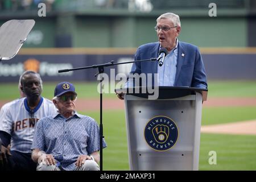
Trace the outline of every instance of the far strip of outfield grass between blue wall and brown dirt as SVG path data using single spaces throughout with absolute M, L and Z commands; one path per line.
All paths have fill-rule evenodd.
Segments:
M 52 99 L 57 82 L 43 83 L 42 96 Z M 73 82 L 79 98 L 99 98 L 97 82 Z M 256 81 L 209 81 L 208 97 L 256 97 Z M 0 100 L 19 97 L 18 83 L 0 84 Z M 115 98 L 115 94 L 104 94 L 104 98 Z

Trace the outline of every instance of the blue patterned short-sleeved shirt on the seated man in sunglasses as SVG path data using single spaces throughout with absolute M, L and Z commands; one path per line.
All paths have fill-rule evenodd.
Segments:
M 31 149 L 35 148 L 52 154 L 63 169 L 70 171 L 75 169 L 79 155 L 100 150 L 100 130 L 93 118 L 77 112 L 68 119 L 61 114 L 45 117 L 36 125 Z

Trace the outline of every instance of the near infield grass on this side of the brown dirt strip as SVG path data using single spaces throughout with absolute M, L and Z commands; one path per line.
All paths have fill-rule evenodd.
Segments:
M 256 107 L 236 107 L 243 110 L 242 113 L 250 113 Z M 250 110 L 250 111 L 247 111 Z M 230 107 L 222 107 L 220 110 L 203 110 L 202 125 L 225 123 L 237 121 L 241 113 L 233 112 Z M 100 120 L 99 113 L 83 113 L 90 115 L 97 121 Z M 216 114 L 218 118 L 216 119 Z M 224 118 L 221 118 L 221 115 Z M 226 117 L 228 115 L 228 117 Z M 228 119 L 228 121 L 225 120 Z M 255 119 L 256 112 L 246 119 Z M 214 122 L 217 121 L 217 122 Z M 104 169 L 105 170 L 128 170 L 128 151 L 125 126 L 125 112 L 123 110 L 106 111 L 103 114 L 104 136 L 108 147 L 104 149 Z M 256 136 L 253 135 L 220 135 L 201 134 L 200 141 L 200 170 L 256 170 Z M 217 152 L 217 164 L 210 165 L 209 151 Z

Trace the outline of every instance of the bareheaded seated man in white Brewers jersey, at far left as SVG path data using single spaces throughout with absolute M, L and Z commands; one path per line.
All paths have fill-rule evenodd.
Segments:
M 52 101 L 41 97 L 42 80 L 33 71 L 20 77 L 20 89 L 26 97 L 11 101 L 0 111 L 0 138 L 2 140 L 0 163 L 3 169 L 35 170 L 31 160 L 31 144 L 36 122 L 56 112 Z M 7 146 L 11 142 L 11 151 Z

